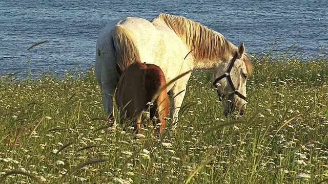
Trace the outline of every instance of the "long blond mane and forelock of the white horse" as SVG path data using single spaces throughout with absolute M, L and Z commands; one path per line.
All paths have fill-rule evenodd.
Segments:
M 237 51 L 237 47 L 218 32 L 206 26 L 182 16 L 175 16 L 166 13 L 159 14 L 159 18 L 184 41 L 190 50 L 195 61 L 201 59 L 213 60 L 216 58 L 230 59 Z M 248 55 L 245 54 L 245 64 L 249 74 L 252 73 L 252 63 Z

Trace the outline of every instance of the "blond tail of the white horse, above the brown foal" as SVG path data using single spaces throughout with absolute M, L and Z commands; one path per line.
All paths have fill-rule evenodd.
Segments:
M 139 50 L 133 40 L 133 35 L 128 29 L 116 25 L 112 30 L 116 62 L 124 71 L 130 64 L 140 62 Z

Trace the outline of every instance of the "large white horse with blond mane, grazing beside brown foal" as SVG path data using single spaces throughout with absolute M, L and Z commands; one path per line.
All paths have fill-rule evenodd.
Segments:
M 125 70 L 131 63 L 151 61 L 161 68 L 168 83 L 189 70 L 212 71 L 218 95 L 223 97 L 224 114 L 234 110 L 243 113 L 247 76 L 252 73 L 244 44 L 237 48 L 220 33 L 198 22 L 162 13 L 152 21 L 138 17 L 111 21 L 98 37 L 95 75 L 110 119 L 114 116 L 113 95 L 119 80 L 115 63 Z M 174 120 L 178 118 L 190 75 L 167 87 L 170 118 Z

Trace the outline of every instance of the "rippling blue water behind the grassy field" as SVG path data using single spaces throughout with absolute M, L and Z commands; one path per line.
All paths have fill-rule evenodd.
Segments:
M 222 33 L 248 53 L 292 52 L 305 57 L 328 53 L 328 1 L 99 1 L 1 0 L 0 75 L 90 68 L 99 32 L 111 19 L 151 20 L 165 12 L 182 15 Z M 49 43 L 27 49 L 34 43 Z

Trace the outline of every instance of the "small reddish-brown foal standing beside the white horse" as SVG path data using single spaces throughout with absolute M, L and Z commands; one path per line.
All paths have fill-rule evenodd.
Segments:
M 116 104 L 121 110 L 121 122 L 132 120 L 133 126 L 140 133 L 141 112 L 147 110 L 157 91 L 166 84 L 165 75 L 160 67 L 154 64 L 133 63 L 121 74 L 116 89 Z M 150 118 L 156 117 L 161 124 L 159 132 L 165 127 L 164 117 L 168 117 L 169 98 L 167 90 L 160 92 L 154 105 L 150 108 Z

